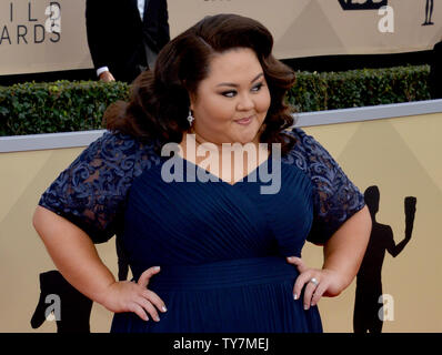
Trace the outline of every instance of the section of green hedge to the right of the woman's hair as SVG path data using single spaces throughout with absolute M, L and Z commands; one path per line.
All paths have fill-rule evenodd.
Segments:
M 289 93 L 300 112 L 430 100 L 429 65 L 298 74 Z

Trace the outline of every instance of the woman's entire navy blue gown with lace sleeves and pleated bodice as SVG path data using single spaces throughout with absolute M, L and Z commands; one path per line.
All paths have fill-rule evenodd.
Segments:
M 304 311 L 302 295 L 293 300 L 298 271 L 285 256 L 301 256 L 307 240 L 325 243 L 364 201 L 312 136 L 289 134 L 297 144 L 282 158 L 275 194 L 261 193 L 259 174 L 233 185 L 165 182 L 167 159 L 153 144 L 112 132 L 60 174 L 41 206 L 94 243 L 117 234 L 135 281 L 161 266 L 148 286 L 168 308 L 161 321 L 119 313 L 111 332 L 322 332 L 318 307 Z M 271 159 L 263 164 L 272 169 Z

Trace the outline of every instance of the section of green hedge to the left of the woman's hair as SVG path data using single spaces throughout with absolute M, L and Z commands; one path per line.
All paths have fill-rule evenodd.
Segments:
M 97 130 L 106 108 L 128 98 L 123 82 L 23 83 L 0 87 L 0 135 Z

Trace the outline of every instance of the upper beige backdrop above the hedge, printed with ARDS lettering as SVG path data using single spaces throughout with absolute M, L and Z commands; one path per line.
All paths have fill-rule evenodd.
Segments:
M 133 1 L 133 0 L 127 0 Z M 401 53 L 442 39 L 433 0 L 169 0 L 173 38 L 208 14 L 264 23 L 280 59 Z M 90 69 L 84 0 L 0 0 L 0 75 Z

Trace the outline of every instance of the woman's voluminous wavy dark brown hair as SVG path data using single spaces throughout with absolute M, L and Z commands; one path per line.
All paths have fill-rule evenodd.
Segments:
M 145 71 L 134 80 L 130 101 L 108 108 L 107 128 L 142 140 L 153 139 L 160 145 L 181 142 L 189 130 L 190 94 L 209 75 L 211 58 L 235 48 L 253 50 L 260 61 L 271 95 L 260 141 L 281 143 L 284 154 L 294 144 L 294 139 L 282 132 L 293 124 L 285 94 L 295 81 L 294 72 L 272 55 L 269 30 L 238 14 L 205 17 L 170 41 L 159 53 L 154 71 Z

